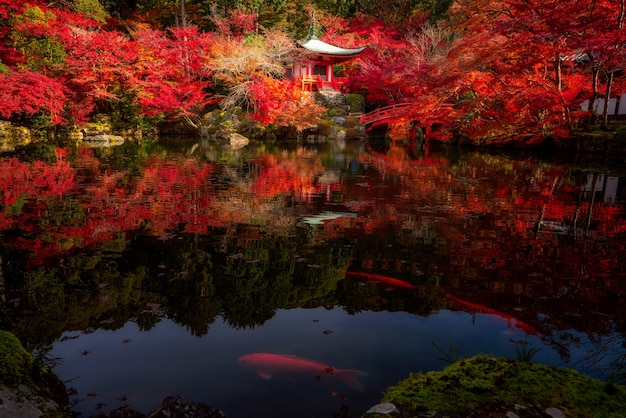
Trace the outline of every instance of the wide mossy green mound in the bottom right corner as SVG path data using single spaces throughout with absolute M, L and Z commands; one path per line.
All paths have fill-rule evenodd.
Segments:
M 440 372 L 412 374 L 384 399 L 404 413 L 470 414 L 491 403 L 528 409 L 558 408 L 568 417 L 618 417 L 626 410 L 626 387 L 575 370 L 479 355 Z

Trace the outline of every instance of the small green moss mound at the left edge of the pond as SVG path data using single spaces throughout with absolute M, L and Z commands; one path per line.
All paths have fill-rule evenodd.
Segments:
M 30 381 L 33 357 L 10 332 L 0 330 L 0 383 L 16 387 Z

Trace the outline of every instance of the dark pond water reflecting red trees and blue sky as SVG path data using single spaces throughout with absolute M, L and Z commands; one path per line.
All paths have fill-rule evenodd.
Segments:
M 0 326 L 84 417 L 170 395 L 358 417 L 411 372 L 522 341 L 623 381 L 621 166 L 361 142 L 21 149 L 0 158 Z M 239 361 L 258 353 L 275 356 Z

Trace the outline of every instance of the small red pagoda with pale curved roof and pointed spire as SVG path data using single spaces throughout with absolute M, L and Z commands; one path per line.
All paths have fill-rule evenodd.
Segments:
M 335 77 L 334 65 L 353 59 L 367 48 L 345 49 L 321 41 L 316 35 L 315 10 L 307 38 L 298 46 L 305 53 L 294 62 L 291 76 L 300 79 L 302 89 L 308 91 L 325 89 L 343 91 L 347 80 Z

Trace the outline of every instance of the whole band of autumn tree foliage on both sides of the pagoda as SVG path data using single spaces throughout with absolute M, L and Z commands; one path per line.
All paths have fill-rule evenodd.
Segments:
M 142 128 L 242 106 L 260 124 L 314 126 L 324 109 L 285 78 L 314 9 L 323 41 L 368 47 L 342 64 L 350 91 L 370 109 L 412 103 L 394 129 L 567 138 L 606 124 L 623 90 L 625 1 L 0 0 L 0 117 Z

